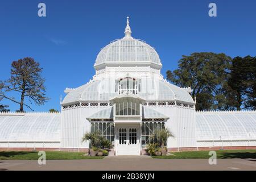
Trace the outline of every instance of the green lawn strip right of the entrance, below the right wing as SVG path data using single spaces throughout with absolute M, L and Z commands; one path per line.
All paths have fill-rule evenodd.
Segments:
M 256 159 L 256 150 L 218 150 L 218 159 Z M 171 152 L 174 155 L 152 156 L 155 159 L 209 159 L 209 151 Z

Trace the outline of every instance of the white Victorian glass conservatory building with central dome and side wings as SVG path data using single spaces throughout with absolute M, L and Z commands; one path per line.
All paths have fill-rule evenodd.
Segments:
M 0 113 L 0 150 L 87 151 L 100 131 L 115 155 L 141 155 L 154 130 L 168 128 L 168 150 L 256 148 L 256 111 L 195 111 L 190 88 L 160 74 L 154 48 L 131 36 L 98 53 L 92 80 L 65 89 L 60 113 Z

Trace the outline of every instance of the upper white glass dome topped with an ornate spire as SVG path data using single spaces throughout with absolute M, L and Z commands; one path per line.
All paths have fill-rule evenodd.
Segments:
M 129 17 L 125 28 L 125 37 L 115 40 L 98 53 L 94 68 L 104 64 L 154 64 L 162 68 L 158 53 L 142 40 L 131 37 Z

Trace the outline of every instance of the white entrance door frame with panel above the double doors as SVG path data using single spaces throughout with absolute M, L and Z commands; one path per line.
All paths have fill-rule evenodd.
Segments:
M 119 143 L 119 129 L 126 129 L 123 143 Z M 130 143 L 130 129 L 136 129 L 136 144 Z M 115 123 L 115 155 L 141 155 L 141 124 L 140 123 Z

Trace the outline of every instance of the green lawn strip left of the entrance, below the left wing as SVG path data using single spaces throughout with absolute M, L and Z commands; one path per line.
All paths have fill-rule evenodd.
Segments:
M 46 151 L 46 159 L 103 159 L 104 157 L 84 156 L 84 152 L 61 152 L 61 151 Z M 23 152 L 23 151 L 1 151 L 0 160 L 18 159 L 18 160 L 38 160 L 40 156 L 38 152 Z

